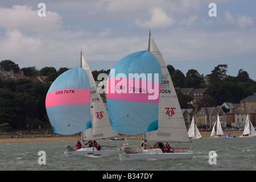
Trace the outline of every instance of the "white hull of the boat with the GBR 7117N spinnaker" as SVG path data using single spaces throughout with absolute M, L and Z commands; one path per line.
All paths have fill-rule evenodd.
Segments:
M 97 150 L 95 147 L 81 148 L 76 151 L 65 151 L 66 157 L 74 155 L 90 156 L 90 157 L 107 157 L 110 155 L 120 154 L 119 150 Z

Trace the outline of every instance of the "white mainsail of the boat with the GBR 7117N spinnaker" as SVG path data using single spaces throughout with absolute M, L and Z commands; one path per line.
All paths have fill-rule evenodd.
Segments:
M 88 75 L 90 83 L 90 115 L 92 119 L 92 127 L 82 131 L 83 140 L 97 140 L 102 138 L 118 137 L 119 134 L 112 130 L 109 121 L 109 114 L 106 110 L 104 102 L 98 93 L 96 82 L 94 81 L 92 71 L 86 63 L 81 52 L 81 68 Z

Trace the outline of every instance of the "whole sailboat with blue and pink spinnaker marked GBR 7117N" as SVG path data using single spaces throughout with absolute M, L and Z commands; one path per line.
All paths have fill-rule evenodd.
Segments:
M 82 52 L 81 67 L 69 69 L 52 83 L 46 96 L 46 110 L 55 133 L 72 135 L 82 132 L 82 148 L 75 150 L 66 146 L 65 156 L 119 154 L 119 150 L 84 147 L 84 141 L 112 138 L 119 134 L 111 129 L 108 111 Z

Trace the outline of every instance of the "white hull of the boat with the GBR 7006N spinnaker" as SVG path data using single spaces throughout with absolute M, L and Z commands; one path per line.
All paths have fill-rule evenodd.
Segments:
M 143 150 L 142 154 L 119 154 L 120 160 L 192 159 L 192 152 L 163 153 L 162 150 Z

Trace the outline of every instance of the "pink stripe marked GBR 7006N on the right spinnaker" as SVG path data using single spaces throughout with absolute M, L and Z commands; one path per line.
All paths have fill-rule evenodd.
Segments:
M 138 81 L 139 84 L 136 84 Z M 108 78 L 107 98 L 116 100 L 150 102 L 159 101 L 161 84 L 135 78 Z

